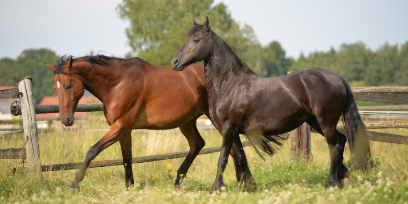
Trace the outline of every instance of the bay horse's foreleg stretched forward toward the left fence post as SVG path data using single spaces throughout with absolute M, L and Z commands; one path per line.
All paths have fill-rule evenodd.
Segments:
M 72 183 L 69 185 L 69 188 L 74 191 L 79 191 L 80 186 L 79 183 L 84 179 L 85 172 L 93 159 L 104 149 L 111 146 L 113 143 L 120 140 L 122 137 L 129 135 L 131 131 L 130 128 L 125 128 L 121 125 L 121 122 L 116 121 L 113 123 L 111 130 L 102 137 L 96 144 L 94 144 L 91 148 L 89 148 L 88 152 L 86 153 L 86 158 L 80 170 L 75 173 L 75 177 Z

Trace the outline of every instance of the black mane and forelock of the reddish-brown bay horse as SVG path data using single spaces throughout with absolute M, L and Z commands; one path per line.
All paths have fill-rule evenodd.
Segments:
M 86 59 L 86 61 L 88 61 L 89 64 L 91 64 L 91 66 L 93 68 L 96 68 L 95 65 L 107 64 L 108 61 L 110 61 L 110 60 L 120 60 L 120 61 L 130 61 L 130 60 L 133 60 L 133 59 L 142 60 L 140 58 L 123 59 L 123 58 L 109 57 L 109 56 L 105 56 L 105 55 L 84 56 L 84 57 L 79 57 L 79 58 L 73 58 L 73 56 L 71 56 L 71 55 L 69 55 L 69 56 L 63 55 L 60 59 L 58 59 L 57 63 L 54 65 L 56 67 L 54 73 L 66 74 L 66 72 L 63 71 L 62 68 L 67 64 L 67 62 L 69 61 L 69 59 L 71 57 L 72 57 L 73 62 L 75 62 L 77 60 Z

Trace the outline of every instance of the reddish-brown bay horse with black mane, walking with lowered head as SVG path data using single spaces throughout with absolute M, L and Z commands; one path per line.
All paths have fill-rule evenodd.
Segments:
M 180 187 L 194 158 L 205 145 L 196 127 L 199 116 L 209 116 L 202 65 L 191 65 L 186 71 L 178 72 L 170 66 L 155 66 L 139 58 L 124 60 L 100 55 L 74 59 L 63 56 L 55 66 L 46 65 L 55 73 L 53 88 L 65 126 L 73 124 L 73 113 L 84 89 L 104 103 L 103 111 L 111 126 L 111 130 L 88 150 L 70 188 L 79 190 L 79 182 L 89 163 L 117 141 L 122 149 L 125 186 L 133 185 L 131 131 L 176 127 L 180 127 L 190 146 L 188 156 L 177 170 L 174 187 Z M 241 146 L 238 139 L 231 150 L 238 181 L 244 171 L 249 171 L 247 165 L 240 163 L 243 160 Z M 234 151 L 238 154 L 234 155 Z

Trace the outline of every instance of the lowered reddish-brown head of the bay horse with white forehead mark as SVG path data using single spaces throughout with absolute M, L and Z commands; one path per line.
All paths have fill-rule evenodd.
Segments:
M 63 56 L 57 67 L 45 63 L 55 74 L 53 88 L 58 95 L 60 119 L 65 126 L 73 124 L 73 113 L 85 92 L 84 85 L 72 72 L 72 62 L 72 56 L 69 58 Z

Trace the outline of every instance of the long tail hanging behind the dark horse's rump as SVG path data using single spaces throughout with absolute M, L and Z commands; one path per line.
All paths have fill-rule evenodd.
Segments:
M 368 132 L 366 125 L 363 123 L 357 105 L 355 104 L 351 88 L 347 82 L 340 77 L 347 90 L 346 107 L 343 111 L 344 130 L 350 155 L 353 161 L 353 168 L 365 169 L 367 163 L 371 161 L 370 143 L 368 141 Z

